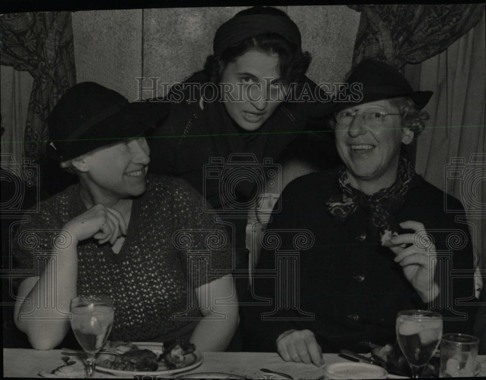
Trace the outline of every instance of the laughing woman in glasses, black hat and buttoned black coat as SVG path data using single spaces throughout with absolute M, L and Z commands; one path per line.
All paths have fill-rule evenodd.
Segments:
M 278 350 L 286 361 L 320 365 L 322 352 L 392 343 L 401 310 L 440 306 L 452 317 L 444 331 L 469 333 L 472 326 L 474 313 L 464 319 L 467 309 L 455 301 L 471 299 L 473 278 L 451 284 L 443 272 L 446 261 L 454 270 L 473 268 L 468 227 L 444 211 L 444 199 L 461 205 L 400 155 L 424 128 L 421 109 L 432 92 L 413 91 L 399 71 L 372 60 L 359 64 L 347 84 L 349 98 L 335 103 L 331 123 L 342 165 L 290 183 L 268 225 L 287 254 L 295 240 L 285 231 L 311 236 L 297 253 L 300 287 L 279 294 L 275 283 L 287 277 L 255 278 L 254 294 L 274 302 L 242 315 L 248 347 Z M 277 254 L 267 244 L 257 269 L 278 270 Z

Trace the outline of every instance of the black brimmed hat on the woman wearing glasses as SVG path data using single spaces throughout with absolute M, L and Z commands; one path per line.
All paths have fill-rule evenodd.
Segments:
M 410 97 L 422 109 L 433 94 L 432 91 L 414 91 L 399 70 L 372 59 L 359 63 L 348 76 L 346 83 L 346 92 L 333 100 L 333 112 L 357 104 L 405 96 Z

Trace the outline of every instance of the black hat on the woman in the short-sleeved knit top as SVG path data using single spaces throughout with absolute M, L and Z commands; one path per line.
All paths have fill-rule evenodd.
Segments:
M 97 83 L 79 83 L 66 91 L 49 115 L 49 153 L 66 161 L 140 136 L 168 112 L 168 103 L 129 103 L 118 92 Z

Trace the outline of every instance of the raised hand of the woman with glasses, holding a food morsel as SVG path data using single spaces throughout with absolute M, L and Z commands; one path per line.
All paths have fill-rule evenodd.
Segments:
M 430 302 L 438 294 L 438 286 L 434 281 L 435 246 L 427 236 L 423 224 L 406 221 L 400 223 L 400 227 L 411 229 L 415 233 L 393 236 L 392 244 L 406 244 L 406 246 L 394 246 L 390 249 L 397 255 L 395 261 L 402 266 L 403 274 L 420 295 L 422 301 Z

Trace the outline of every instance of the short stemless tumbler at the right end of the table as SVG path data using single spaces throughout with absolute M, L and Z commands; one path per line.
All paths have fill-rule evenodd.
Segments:
M 439 377 L 473 377 L 479 339 L 466 334 L 444 334 L 440 343 Z

